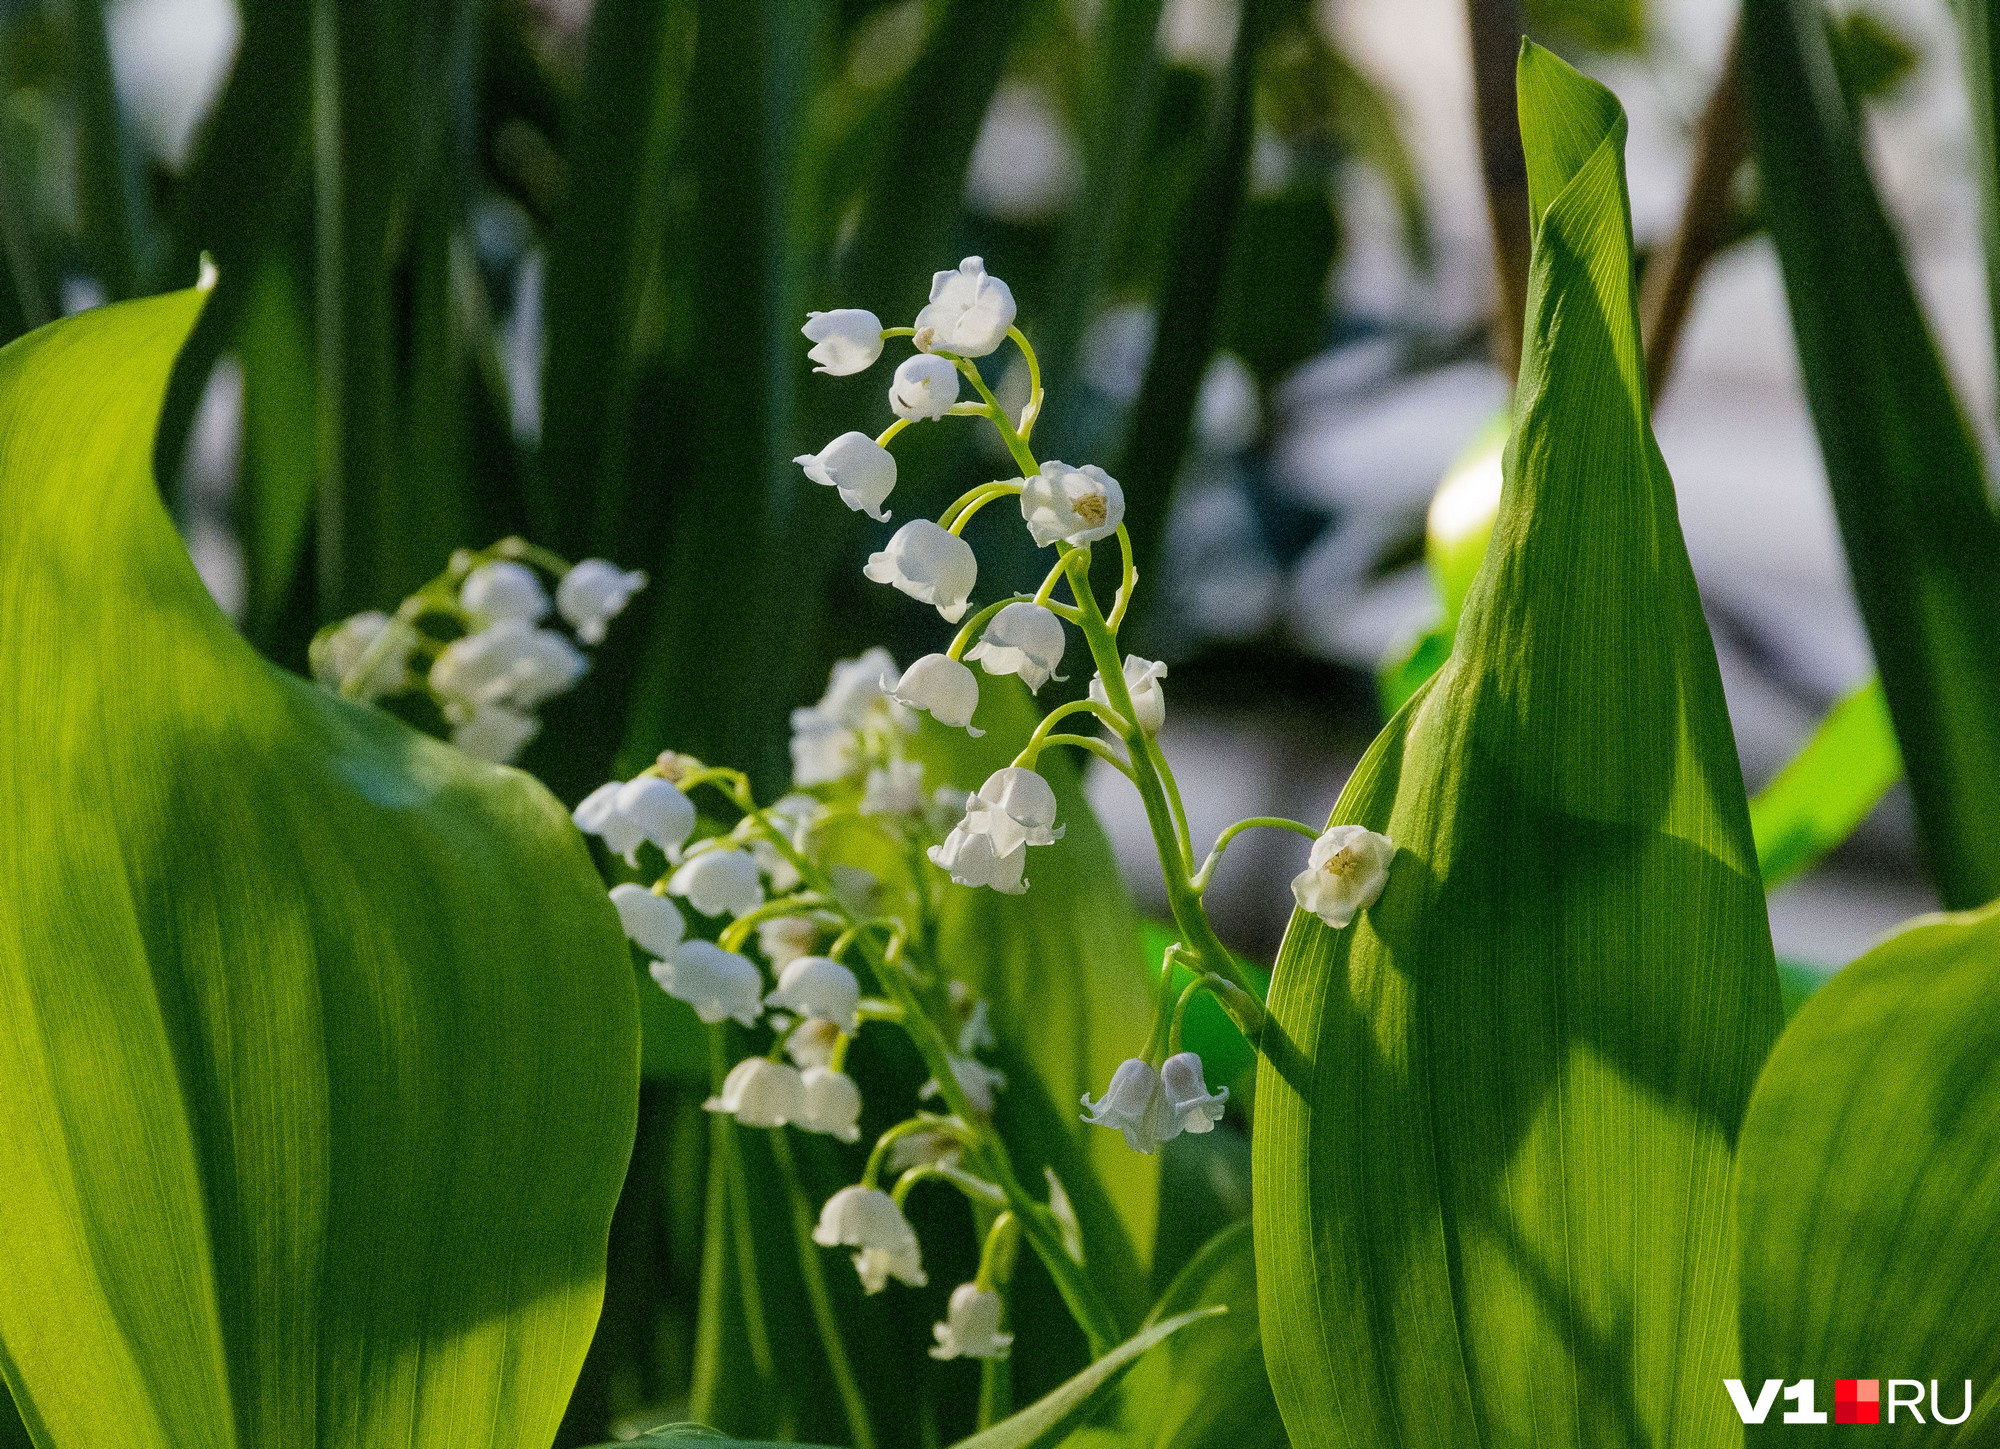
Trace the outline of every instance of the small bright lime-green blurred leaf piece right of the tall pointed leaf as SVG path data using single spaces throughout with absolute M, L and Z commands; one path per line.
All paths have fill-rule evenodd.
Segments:
M 1820 729 L 1750 801 L 1758 869 L 1776 887 L 1810 871 L 1846 841 L 1902 779 L 1902 755 L 1882 682 L 1868 680 L 1820 720 Z

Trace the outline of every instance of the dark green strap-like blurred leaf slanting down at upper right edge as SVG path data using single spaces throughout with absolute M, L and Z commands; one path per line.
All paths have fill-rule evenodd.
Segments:
M 2000 518 L 1816 0 L 1748 0 L 1762 212 L 1938 895 L 2000 895 Z

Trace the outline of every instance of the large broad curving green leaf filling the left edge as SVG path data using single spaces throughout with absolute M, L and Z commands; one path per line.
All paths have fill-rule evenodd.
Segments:
M 148 466 L 202 298 L 0 352 L 0 1345 L 42 1449 L 544 1449 L 632 1141 L 560 807 L 262 662 Z

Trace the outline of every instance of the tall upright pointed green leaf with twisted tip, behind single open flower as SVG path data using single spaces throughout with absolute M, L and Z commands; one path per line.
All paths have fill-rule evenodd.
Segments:
M 1780 1023 L 1714 646 L 1646 420 L 1618 102 L 1520 58 L 1534 264 L 1450 662 L 1334 807 L 1396 843 L 1298 915 L 1254 1125 L 1302 1445 L 1734 1441 L 1730 1143 Z

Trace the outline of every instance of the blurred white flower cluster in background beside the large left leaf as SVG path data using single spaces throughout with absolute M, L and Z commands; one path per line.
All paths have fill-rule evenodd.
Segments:
M 550 598 L 534 556 L 556 574 Z M 560 564 L 508 540 L 486 554 L 454 558 L 444 576 L 412 594 L 394 616 L 370 610 L 320 630 L 312 676 L 338 694 L 380 700 L 422 692 L 452 727 L 452 743 L 484 761 L 512 763 L 540 731 L 536 710 L 590 668 L 578 648 L 604 630 L 646 574 L 602 558 Z M 550 628 L 560 614 L 570 634 Z M 456 636 L 426 628 L 432 620 Z

